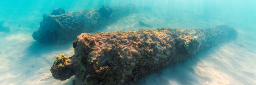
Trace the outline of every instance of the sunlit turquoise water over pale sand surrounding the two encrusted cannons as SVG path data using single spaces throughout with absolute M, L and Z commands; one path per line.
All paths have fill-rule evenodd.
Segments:
M 140 85 L 255 85 L 256 0 L 3 0 L 0 21 L 10 32 L 0 32 L 0 85 L 70 85 L 50 67 L 56 55 L 72 56 L 72 43 L 41 44 L 32 38 L 42 15 L 54 8 L 66 12 L 134 4 L 130 14 L 103 27 L 102 32 L 156 28 L 213 28 L 229 25 L 238 31 L 236 41 L 223 43 L 172 67 L 148 75 Z M 150 26 L 138 25 L 142 20 Z M 1 25 L 1 24 L 0 24 Z

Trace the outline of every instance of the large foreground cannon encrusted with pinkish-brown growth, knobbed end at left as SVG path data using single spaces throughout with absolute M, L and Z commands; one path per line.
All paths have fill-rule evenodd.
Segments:
M 73 42 L 75 54 L 57 56 L 51 73 L 60 80 L 75 75 L 76 85 L 136 84 L 149 73 L 236 36 L 229 26 L 83 33 Z

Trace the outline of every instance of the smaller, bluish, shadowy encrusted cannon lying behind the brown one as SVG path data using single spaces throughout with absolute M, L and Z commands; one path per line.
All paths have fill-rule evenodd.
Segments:
M 40 28 L 33 33 L 34 40 L 42 43 L 66 43 L 75 40 L 81 33 L 95 32 L 103 26 L 136 12 L 134 5 L 82 10 L 66 13 L 56 8 L 43 15 Z

